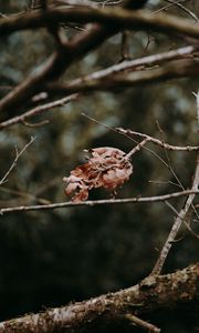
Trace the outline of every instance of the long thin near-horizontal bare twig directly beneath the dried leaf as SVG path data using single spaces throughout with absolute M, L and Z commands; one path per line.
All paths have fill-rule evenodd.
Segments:
M 170 194 L 156 195 L 156 196 L 136 196 L 136 198 L 126 198 L 126 199 L 104 199 L 104 200 L 87 200 L 83 202 L 60 202 L 52 204 L 43 204 L 43 205 L 21 205 L 21 206 L 10 206 L 10 208 L 1 208 L 0 214 L 12 213 L 12 212 L 28 212 L 28 211 L 39 211 L 39 210 L 55 210 L 71 206 L 94 206 L 102 204 L 125 204 L 125 203 L 155 203 L 155 202 L 165 202 L 168 200 L 172 200 L 180 196 L 186 196 L 189 194 L 199 194 L 199 190 L 188 190 L 181 192 L 174 192 Z

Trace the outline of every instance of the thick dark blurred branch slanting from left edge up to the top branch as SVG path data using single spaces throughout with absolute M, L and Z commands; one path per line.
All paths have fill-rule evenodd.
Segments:
M 142 8 L 147 0 L 132 0 L 125 1 L 125 8 L 128 9 L 137 9 Z M 84 8 L 81 10 L 85 10 Z M 77 9 L 72 10 L 76 17 L 81 16 Z M 88 14 L 91 13 L 91 9 L 87 10 Z M 97 10 L 101 12 L 101 10 Z M 127 11 L 128 12 L 128 11 Z M 61 10 L 61 14 L 63 10 Z M 35 13 L 32 12 L 30 16 L 34 16 Z M 42 11 L 39 14 L 49 14 L 48 11 Z M 29 14 L 28 14 L 29 16 Z M 53 18 L 56 14 L 53 12 Z M 27 16 L 23 17 L 27 20 Z M 51 24 L 53 26 L 54 22 L 50 20 Z M 21 17 L 19 19 L 19 24 L 21 24 Z M 12 20 L 12 18 L 11 18 Z M 36 18 L 38 20 L 38 18 Z M 43 19 L 39 17 L 39 21 Z M 29 17 L 28 17 L 29 21 Z M 91 20 L 90 21 L 96 21 Z M 7 27 L 9 21 L 0 20 L 0 34 L 7 33 Z M 48 26 L 49 27 L 49 26 Z M 0 112 L 4 112 L 11 110 L 13 107 L 19 107 L 20 104 L 24 103 L 33 97 L 35 93 L 42 91 L 44 89 L 44 83 L 59 79 L 61 74 L 66 70 L 74 61 L 83 58 L 87 52 L 95 50 L 98 46 L 101 46 L 108 37 L 117 33 L 119 28 L 117 26 L 109 24 L 108 26 L 101 26 L 100 23 L 92 24 L 86 31 L 77 34 L 73 40 L 67 41 L 59 46 L 59 50 L 55 51 L 50 59 L 48 59 L 43 65 L 30 77 L 28 77 L 21 84 L 19 84 L 15 89 L 13 89 L 10 93 L 8 93 L 1 101 L 0 101 Z M 13 30 L 15 31 L 15 30 Z

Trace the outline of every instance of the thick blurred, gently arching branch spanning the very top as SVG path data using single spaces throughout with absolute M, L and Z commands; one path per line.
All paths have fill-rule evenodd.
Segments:
M 137 1 L 137 3 L 139 2 L 142 1 Z M 142 8 L 142 4 L 139 8 Z M 151 14 L 147 11 L 132 12 L 121 8 L 97 9 L 91 7 L 54 8 L 48 11 L 25 13 L 23 17 L 2 18 L 0 20 L 0 36 L 6 36 L 17 30 L 43 28 L 59 22 L 97 22 L 106 27 L 115 26 L 117 30 L 151 29 L 157 32 L 172 32 L 199 38 L 199 27 L 192 23 L 191 20 L 164 13 Z

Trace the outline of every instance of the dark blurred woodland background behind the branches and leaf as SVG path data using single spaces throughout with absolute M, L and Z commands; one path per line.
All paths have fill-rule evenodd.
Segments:
M 149 1 L 148 9 L 157 10 L 166 4 L 167 1 Z M 190 1 L 184 1 L 184 4 L 188 7 Z M 29 6 L 25 0 L 0 0 L 1 16 L 23 12 Z M 170 7 L 167 11 L 188 16 L 179 8 Z M 65 28 L 65 33 L 73 36 L 76 31 Z M 97 51 L 74 63 L 63 80 L 117 63 L 121 60 L 121 34 L 111 38 Z M 132 59 L 179 46 L 186 46 L 186 42 L 158 33 L 129 33 Z M 44 29 L 1 38 L 1 97 L 38 69 L 53 49 L 54 41 Z M 181 79 L 121 89 L 115 93 L 95 92 L 31 119 L 30 124 L 1 131 L 0 179 L 14 159 L 14 145 L 21 149 L 31 135 L 36 139 L 18 161 L 9 181 L 0 186 L 0 205 L 65 201 L 62 179 L 84 162 L 84 149 L 108 145 L 128 152 L 135 145 L 81 112 L 108 127 L 129 128 L 161 140 L 164 132 L 164 140 L 171 144 L 198 144 L 196 99 L 192 95 L 198 87 L 196 79 Z M 43 120 L 49 120 L 49 123 L 31 127 Z M 179 191 L 179 182 L 185 188 L 189 185 L 195 153 L 166 154 L 153 144 L 148 148 L 156 155 L 147 150 L 134 155 L 134 173 L 118 191 L 118 198 Z M 93 191 L 90 195 L 90 199 L 106 198 L 109 193 L 104 190 Z M 184 199 L 174 203 L 179 210 Z M 137 283 L 151 271 L 174 218 L 164 203 L 70 208 L 0 216 L 0 320 Z M 197 231 L 197 223 L 192 228 Z M 164 272 L 196 262 L 198 245 L 198 241 L 182 230 Z M 197 314 L 191 312 L 186 312 L 185 316 L 181 312 L 157 313 L 153 323 L 163 327 L 163 332 L 199 332 Z M 105 327 L 100 330 L 105 332 Z M 132 330 L 139 332 L 127 325 L 106 329 L 107 332 Z

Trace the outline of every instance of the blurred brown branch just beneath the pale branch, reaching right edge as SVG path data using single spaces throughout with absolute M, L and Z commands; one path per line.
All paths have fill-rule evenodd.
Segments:
M 179 79 L 199 75 L 199 65 L 197 59 L 184 59 L 172 61 L 163 67 L 154 69 L 135 71 L 132 73 L 121 73 L 115 75 L 95 77 L 86 75 L 81 79 L 73 80 L 66 84 L 50 84 L 48 88 L 51 92 L 61 94 L 71 94 L 75 92 L 88 91 L 114 91 L 137 84 L 148 84 L 153 82 L 161 82 L 170 79 Z

